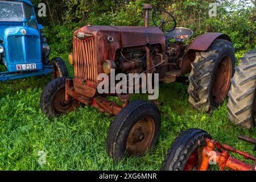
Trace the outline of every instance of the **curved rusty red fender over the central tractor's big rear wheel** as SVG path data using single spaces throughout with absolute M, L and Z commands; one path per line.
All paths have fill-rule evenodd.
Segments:
M 210 45 L 216 39 L 225 39 L 232 42 L 230 37 L 226 34 L 208 32 L 198 36 L 193 42 L 188 46 L 186 53 L 181 60 L 181 75 L 185 75 L 191 72 L 191 63 L 195 60 L 195 51 L 206 51 Z

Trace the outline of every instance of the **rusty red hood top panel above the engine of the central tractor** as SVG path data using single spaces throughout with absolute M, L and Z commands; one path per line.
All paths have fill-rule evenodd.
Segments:
M 131 27 L 131 26 L 84 26 L 75 31 L 92 34 L 93 36 L 104 36 L 107 40 L 110 34 L 117 36 L 115 40 L 121 41 L 121 48 L 144 46 L 146 44 L 165 44 L 164 33 L 158 27 Z

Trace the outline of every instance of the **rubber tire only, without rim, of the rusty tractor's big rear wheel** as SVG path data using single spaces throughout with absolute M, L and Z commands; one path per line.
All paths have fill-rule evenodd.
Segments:
M 233 44 L 228 40 L 216 39 L 207 51 L 197 51 L 195 61 L 192 63 L 192 72 L 189 76 L 189 102 L 193 107 L 204 112 L 210 112 L 214 107 L 223 104 L 216 104 L 213 100 L 213 84 L 218 65 L 223 56 L 229 56 L 232 60 L 232 76 L 236 57 Z M 231 78 L 231 77 L 230 77 Z M 228 89 L 229 90 L 229 89 Z M 228 96 L 226 90 L 226 96 Z M 225 97 L 226 98 L 226 97 Z

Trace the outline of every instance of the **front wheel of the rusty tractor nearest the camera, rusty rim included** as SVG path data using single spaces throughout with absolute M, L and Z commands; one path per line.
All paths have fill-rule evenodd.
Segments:
M 115 162 L 125 154 L 143 155 L 158 141 L 160 125 L 160 111 L 153 103 L 131 102 L 119 112 L 110 126 L 106 142 L 108 154 Z

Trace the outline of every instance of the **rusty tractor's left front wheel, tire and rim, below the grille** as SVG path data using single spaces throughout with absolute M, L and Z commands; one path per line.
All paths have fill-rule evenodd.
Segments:
M 75 110 L 80 106 L 79 101 L 65 101 L 65 80 L 67 77 L 59 77 L 49 82 L 44 88 L 40 98 L 40 107 L 43 114 L 46 114 L 49 119 L 53 119 L 61 114 L 66 114 Z

